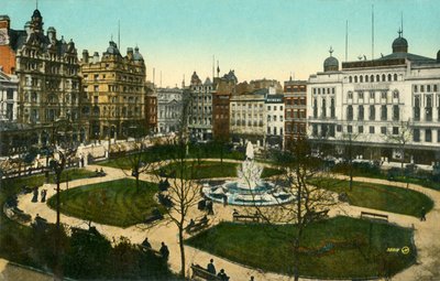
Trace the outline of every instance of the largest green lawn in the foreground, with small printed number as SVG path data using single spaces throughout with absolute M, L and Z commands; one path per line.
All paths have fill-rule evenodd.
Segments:
M 292 275 L 294 230 L 293 225 L 221 223 L 186 244 L 253 268 Z M 411 238 L 410 229 L 363 219 L 336 217 L 314 223 L 304 234 L 299 272 L 348 279 L 395 274 L 415 261 Z M 405 246 L 410 248 L 409 255 L 386 251 Z

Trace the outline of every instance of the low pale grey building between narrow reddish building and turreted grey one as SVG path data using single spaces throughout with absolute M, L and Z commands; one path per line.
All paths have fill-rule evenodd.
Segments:
M 183 95 L 179 88 L 157 88 L 157 132 L 177 132 L 182 128 Z

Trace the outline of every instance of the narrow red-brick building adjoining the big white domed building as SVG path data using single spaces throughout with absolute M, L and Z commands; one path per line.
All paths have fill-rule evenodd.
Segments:
M 307 82 L 287 80 L 284 83 L 285 147 L 307 133 Z

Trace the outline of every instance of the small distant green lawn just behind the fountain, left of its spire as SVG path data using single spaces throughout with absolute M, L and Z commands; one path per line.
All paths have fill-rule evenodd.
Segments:
M 220 163 L 209 161 L 188 161 L 184 172 L 185 179 L 211 179 L 211 177 L 233 177 L 237 176 L 237 163 Z M 180 177 L 179 163 L 170 163 L 162 167 L 166 176 Z

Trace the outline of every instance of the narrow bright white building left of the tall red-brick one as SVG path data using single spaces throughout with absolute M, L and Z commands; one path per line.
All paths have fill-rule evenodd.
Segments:
M 275 94 L 275 88 L 266 91 L 266 148 L 282 149 L 284 143 L 284 95 Z

